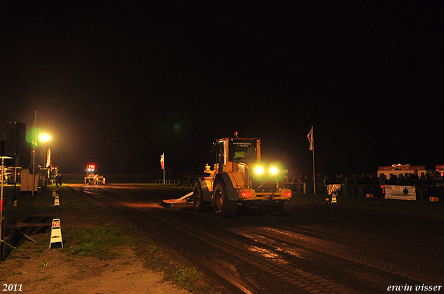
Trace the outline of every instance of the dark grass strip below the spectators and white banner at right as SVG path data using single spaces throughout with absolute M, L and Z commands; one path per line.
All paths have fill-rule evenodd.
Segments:
M 312 204 L 327 204 L 325 194 L 294 193 L 292 199 Z M 364 212 L 390 212 L 391 214 L 415 215 L 418 217 L 434 217 L 444 219 L 444 202 L 407 201 L 383 198 L 347 197 L 336 198 L 338 206 Z M 335 205 L 335 204 L 333 204 Z

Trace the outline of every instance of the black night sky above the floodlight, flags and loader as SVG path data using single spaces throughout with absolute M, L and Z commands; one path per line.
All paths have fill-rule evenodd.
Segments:
M 0 122 L 60 172 L 201 174 L 239 131 L 310 175 L 311 125 L 317 173 L 444 164 L 439 1 L 140 2 L 0 4 Z

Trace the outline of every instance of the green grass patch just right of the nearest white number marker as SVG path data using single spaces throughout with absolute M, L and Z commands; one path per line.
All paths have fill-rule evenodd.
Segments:
M 74 228 L 66 230 L 63 237 L 69 240 L 69 248 L 60 249 L 71 255 L 85 255 L 99 259 L 114 259 L 121 255 L 120 246 L 129 246 L 133 242 L 121 233 L 114 223 L 107 223 L 99 228 Z

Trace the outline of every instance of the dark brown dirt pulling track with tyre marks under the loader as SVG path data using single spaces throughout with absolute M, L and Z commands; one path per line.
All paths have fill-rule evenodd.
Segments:
M 442 223 L 361 215 L 289 201 L 284 215 L 160 207 L 184 192 L 77 187 L 132 223 L 139 235 L 196 266 L 224 293 L 386 293 L 393 285 L 442 286 Z

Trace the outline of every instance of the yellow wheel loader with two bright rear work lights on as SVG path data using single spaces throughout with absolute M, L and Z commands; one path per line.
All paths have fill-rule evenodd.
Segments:
M 214 143 L 216 163 L 206 165 L 207 176 L 198 178 L 192 199 L 196 211 L 212 207 L 219 217 L 234 217 L 239 206 L 263 212 L 282 211 L 291 190 L 284 186 L 278 165 L 261 161 L 261 139 L 226 137 Z M 190 195 L 191 196 L 191 195 Z

